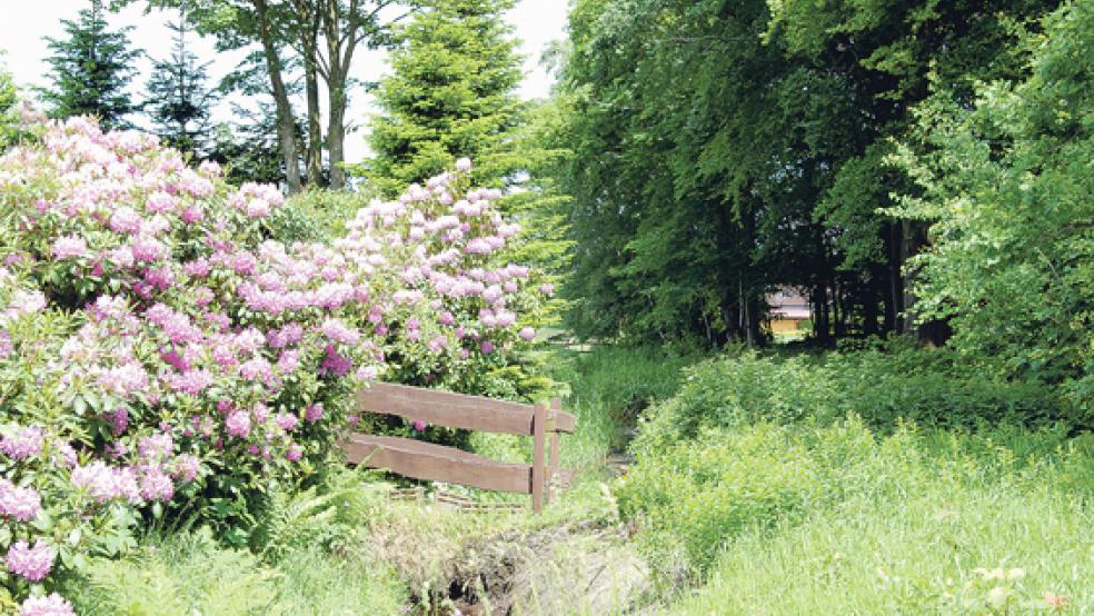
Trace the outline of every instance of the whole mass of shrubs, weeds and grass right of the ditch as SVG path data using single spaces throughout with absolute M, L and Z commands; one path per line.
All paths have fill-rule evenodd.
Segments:
M 674 614 L 1094 610 L 1094 436 L 947 351 L 733 354 L 613 486 Z

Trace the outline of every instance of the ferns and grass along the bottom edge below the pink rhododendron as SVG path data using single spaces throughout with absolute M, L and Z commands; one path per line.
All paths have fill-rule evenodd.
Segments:
M 208 531 L 148 537 L 128 558 L 97 559 L 89 572 L 70 594 L 88 616 L 348 616 L 406 604 L 390 567 L 367 555 L 299 548 L 269 565 Z

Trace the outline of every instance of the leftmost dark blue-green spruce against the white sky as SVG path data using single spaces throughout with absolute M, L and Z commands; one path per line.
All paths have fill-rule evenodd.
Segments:
M 127 88 L 141 52 L 129 48 L 126 32 L 131 28 L 107 30 L 103 13 L 102 0 L 91 0 L 78 20 L 61 20 L 67 38 L 46 37 L 53 52 L 47 59 L 53 88 L 41 93 L 53 117 L 92 115 L 103 128 L 126 128 L 126 116 L 137 110 Z

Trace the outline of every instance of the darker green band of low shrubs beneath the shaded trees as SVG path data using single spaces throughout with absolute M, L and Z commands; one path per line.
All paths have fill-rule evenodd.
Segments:
M 639 447 L 753 423 L 824 425 L 849 413 L 882 433 L 902 423 L 975 427 L 1074 419 L 1052 389 L 985 375 L 948 351 L 747 352 L 690 369 L 680 393 L 648 417 Z

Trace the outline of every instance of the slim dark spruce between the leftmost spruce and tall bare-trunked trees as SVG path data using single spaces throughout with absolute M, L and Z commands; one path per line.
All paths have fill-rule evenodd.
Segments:
M 175 48 L 169 59 L 155 64 L 148 80 L 146 109 L 156 133 L 167 143 L 203 156 L 208 147 L 209 117 L 218 98 L 206 85 L 209 62 L 198 63 L 197 54 L 187 48 L 190 27 L 185 17 L 167 27 L 175 32 Z

